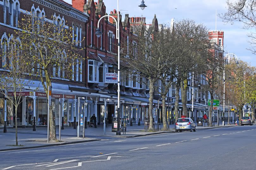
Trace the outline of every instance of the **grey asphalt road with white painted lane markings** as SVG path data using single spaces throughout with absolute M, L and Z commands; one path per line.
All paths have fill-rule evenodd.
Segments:
M 0 169 L 256 169 L 256 126 L 0 152 Z

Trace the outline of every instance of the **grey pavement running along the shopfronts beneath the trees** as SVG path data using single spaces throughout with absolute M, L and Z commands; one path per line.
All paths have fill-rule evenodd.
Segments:
M 226 126 L 197 126 L 199 129 L 212 129 L 218 127 L 229 127 L 235 125 L 226 125 Z M 148 135 L 156 135 L 161 133 L 171 133 L 175 132 L 174 125 L 169 125 L 169 131 L 157 131 L 157 132 L 145 132 L 144 125 L 137 126 L 127 126 L 126 134 L 121 132 L 121 136 L 116 136 L 115 132 L 112 132 L 111 124 L 107 124 L 106 135 L 103 134 L 103 126 L 98 125 L 97 128 L 87 127 L 85 129 L 85 138 L 77 137 L 77 129 L 73 127 L 64 127 L 64 130 L 61 130 L 61 142 L 47 143 L 47 128 L 46 127 L 37 127 L 36 131 L 33 132 L 32 128 L 18 128 L 18 145 L 20 146 L 11 146 L 15 145 L 15 129 L 7 129 L 7 133 L 3 133 L 3 130 L 0 131 L 1 145 L 0 151 L 6 150 L 17 150 L 17 149 L 29 149 L 29 148 L 40 148 L 40 147 L 49 147 L 55 145 L 66 145 L 66 144 L 75 144 L 75 143 L 85 143 L 92 142 L 97 140 L 112 139 L 112 138 L 134 138 Z M 59 130 L 56 128 L 57 139 L 59 139 Z

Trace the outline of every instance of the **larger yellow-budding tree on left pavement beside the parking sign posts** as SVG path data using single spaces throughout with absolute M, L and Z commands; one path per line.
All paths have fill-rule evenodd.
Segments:
M 83 48 L 77 48 L 81 42 L 72 27 L 66 28 L 59 19 L 47 17 L 49 19 L 25 14 L 19 23 L 22 31 L 16 30 L 15 34 L 20 37 L 22 51 L 30 54 L 27 59 L 31 68 L 29 74 L 40 79 L 48 99 L 48 86 L 52 86 L 52 80 L 74 80 L 76 67 L 83 60 Z M 52 105 L 49 106 L 49 126 L 50 141 L 57 141 Z

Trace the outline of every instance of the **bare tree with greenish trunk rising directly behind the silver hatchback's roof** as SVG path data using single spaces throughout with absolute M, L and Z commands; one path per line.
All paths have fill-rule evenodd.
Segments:
M 179 42 L 179 63 L 176 70 L 181 89 L 183 114 L 188 116 L 187 111 L 187 83 L 188 73 L 192 71 L 201 73 L 202 66 L 207 60 L 209 50 L 208 29 L 203 24 L 197 24 L 190 19 L 183 19 L 174 24 L 174 34 Z M 178 102 L 178 101 L 177 101 Z

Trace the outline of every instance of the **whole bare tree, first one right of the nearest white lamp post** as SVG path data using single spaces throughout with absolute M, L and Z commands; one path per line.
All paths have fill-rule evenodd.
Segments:
M 168 29 L 155 30 L 153 26 L 134 26 L 135 36 L 122 43 L 121 60 L 130 73 L 139 74 L 149 82 L 149 130 L 153 131 L 153 97 L 154 84 L 166 69 L 167 63 L 173 60 L 176 49 L 175 41 Z

